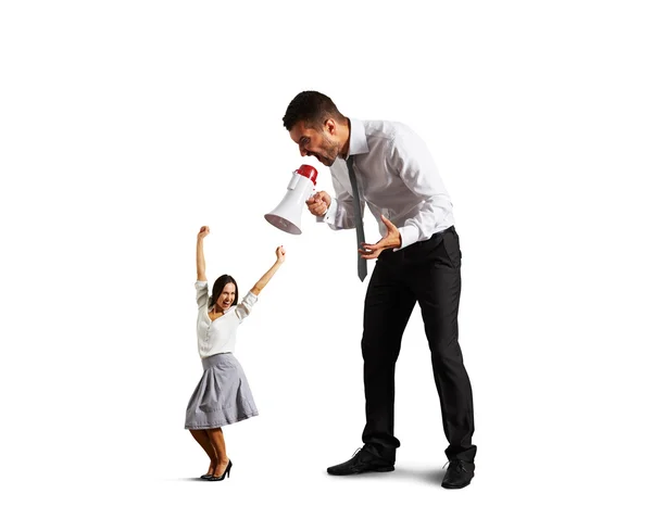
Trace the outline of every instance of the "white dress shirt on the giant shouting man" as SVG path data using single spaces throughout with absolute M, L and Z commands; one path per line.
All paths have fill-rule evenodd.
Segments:
M 453 204 L 425 142 L 406 125 L 396 122 L 351 119 L 349 155 L 354 155 L 362 212 L 364 202 L 387 228 L 384 215 L 401 232 L 400 250 L 425 241 L 454 225 Z M 324 216 L 334 230 L 355 228 L 349 169 L 338 157 L 330 167 L 335 197 Z

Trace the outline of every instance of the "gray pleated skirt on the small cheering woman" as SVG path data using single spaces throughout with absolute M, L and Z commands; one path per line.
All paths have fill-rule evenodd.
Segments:
M 216 429 L 258 415 L 242 366 L 231 353 L 201 359 L 203 375 L 186 408 L 186 429 Z

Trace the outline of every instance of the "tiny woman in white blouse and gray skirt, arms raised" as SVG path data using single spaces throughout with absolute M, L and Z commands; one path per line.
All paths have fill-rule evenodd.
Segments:
M 258 415 L 244 371 L 233 355 L 236 332 L 249 316 L 261 290 L 285 262 L 283 246 L 276 249 L 276 262 L 238 303 L 238 284 L 228 275 L 213 283 L 209 298 L 203 239 L 209 227 L 197 235 L 197 345 L 203 375 L 186 409 L 186 429 L 209 455 L 209 472 L 201 478 L 222 481 L 230 476 L 231 460 L 226 455 L 222 427 Z

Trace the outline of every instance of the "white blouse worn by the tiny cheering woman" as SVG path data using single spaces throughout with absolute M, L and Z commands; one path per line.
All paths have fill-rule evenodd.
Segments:
M 209 282 L 197 281 L 197 346 L 199 356 L 215 355 L 217 353 L 234 352 L 236 347 L 236 332 L 238 326 L 251 313 L 251 307 L 258 296 L 249 292 L 236 306 L 231 306 L 220 318 L 212 320 L 209 317 Z

